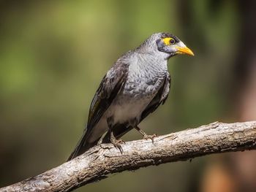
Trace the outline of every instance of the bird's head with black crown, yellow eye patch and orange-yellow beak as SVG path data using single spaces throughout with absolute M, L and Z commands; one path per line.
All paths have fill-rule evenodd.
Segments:
M 168 33 L 152 34 L 151 37 L 138 47 L 140 50 L 148 53 L 162 53 L 166 58 L 170 58 L 178 54 L 194 55 L 184 42 L 181 42 L 178 37 Z

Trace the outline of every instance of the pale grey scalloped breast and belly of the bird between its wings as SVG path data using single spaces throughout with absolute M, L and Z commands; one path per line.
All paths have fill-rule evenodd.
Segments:
M 136 56 L 136 57 L 135 57 Z M 153 55 L 129 58 L 129 72 L 124 90 L 110 107 L 115 123 L 139 119 L 143 110 L 162 87 L 167 75 L 167 61 Z

